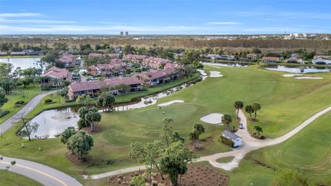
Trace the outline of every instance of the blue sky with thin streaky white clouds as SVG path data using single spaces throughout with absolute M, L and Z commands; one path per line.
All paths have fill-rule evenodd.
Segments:
M 330 33 L 331 0 L 0 0 L 0 34 Z

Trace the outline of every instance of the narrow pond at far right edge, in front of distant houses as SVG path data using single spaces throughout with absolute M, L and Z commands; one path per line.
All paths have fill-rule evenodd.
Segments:
M 290 73 L 314 73 L 314 72 L 331 72 L 330 68 L 316 68 L 316 67 L 305 67 L 305 66 L 294 66 L 289 67 L 285 65 L 275 65 L 275 66 L 268 66 L 265 68 L 266 70 L 274 70 L 279 72 L 290 72 Z

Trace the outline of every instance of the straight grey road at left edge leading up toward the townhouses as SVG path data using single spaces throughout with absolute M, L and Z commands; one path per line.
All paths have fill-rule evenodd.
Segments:
M 17 122 L 18 116 L 22 116 L 22 114 L 23 116 L 26 116 L 26 114 L 28 114 L 35 106 L 37 106 L 40 103 L 43 97 L 47 96 L 50 93 L 54 93 L 54 91 L 45 92 L 42 94 L 38 94 L 37 96 L 34 96 L 21 110 L 19 110 L 19 112 L 8 118 L 8 120 L 1 123 L 0 130 L 2 132 L 6 132 L 7 130 L 9 130 L 10 127 L 12 127 L 12 125 L 14 125 L 15 122 Z

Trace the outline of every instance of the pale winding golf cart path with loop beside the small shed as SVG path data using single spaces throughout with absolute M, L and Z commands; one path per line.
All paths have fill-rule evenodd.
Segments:
M 326 108 L 325 110 L 322 110 L 321 112 L 318 112 L 317 114 L 314 114 L 314 116 L 308 118 L 306 121 L 301 123 L 298 127 L 294 128 L 294 130 L 288 132 L 287 134 L 284 134 L 283 136 L 280 136 L 279 138 L 265 139 L 262 141 L 262 140 L 258 140 L 256 138 L 252 138 L 252 136 L 250 136 L 250 133 L 247 130 L 247 118 L 245 117 L 245 114 L 243 114 L 242 110 L 239 110 L 239 117 L 241 118 L 241 123 L 243 123 L 244 129 L 238 130 L 236 132 L 236 134 L 238 136 L 241 136 L 241 138 L 243 138 L 244 144 L 241 145 L 241 147 L 239 147 L 238 149 L 234 149 L 230 152 L 221 152 L 221 153 L 217 153 L 217 154 L 212 154 L 210 156 L 203 156 L 203 157 L 199 158 L 197 161 L 208 161 L 210 163 L 210 165 L 212 165 L 214 167 L 225 169 L 225 170 L 232 170 L 239 166 L 239 162 L 241 161 L 241 159 L 243 159 L 245 154 L 247 154 L 248 152 L 251 152 L 255 149 L 259 149 L 261 147 L 266 147 L 266 146 L 282 143 L 283 141 L 286 141 L 288 138 L 290 138 L 294 134 L 297 134 L 305 126 L 312 123 L 312 121 L 314 121 L 316 118 L 318 118 L 319 116 L 321 116 L 327 112 L 330 112 L 330 111 L 331 111 L 331 106 Z M 223 158 L 226 156 L 234 156 L 234 159 L 230 163 L 218 163 L 217 162 L 217 159 Z M 114 176 L 117 174 L 135 172 L 135 171 L 139 171 L 141 169 L 145 169 L 145 167 L 139 166 L 139 167 L 129 167 L 126 169 L 119 169 L 119 170 L 113 171 L 113 172 L 92 175 L 91 178 L 92 179 L 105 178 L 105 177 Z

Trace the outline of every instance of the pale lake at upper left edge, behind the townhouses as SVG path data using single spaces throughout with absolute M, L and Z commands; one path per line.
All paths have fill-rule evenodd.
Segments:
M 22 70 L 27 68 L 37 68 L 37 61 L 40 61 L 39 57 L 26 57 L 26 58 L 1 58 L 0 62 L 12 63 L 14 71 L 16 68 L 20 67 Z

